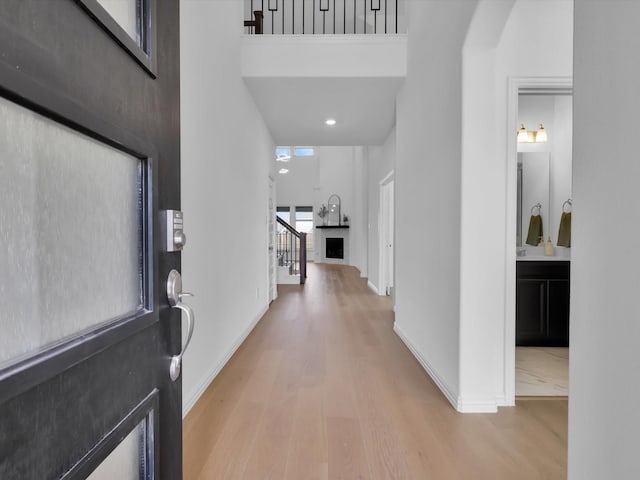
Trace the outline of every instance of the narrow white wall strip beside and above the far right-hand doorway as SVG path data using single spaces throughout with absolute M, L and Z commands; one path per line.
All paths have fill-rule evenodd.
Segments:
M 380 294 L 380 182 L 395 168 L 396 130 L 391 130 L 381 146 L 367 148 L 367 202 L 369 205 L 367 231 L 367 271 L 369 282 Z

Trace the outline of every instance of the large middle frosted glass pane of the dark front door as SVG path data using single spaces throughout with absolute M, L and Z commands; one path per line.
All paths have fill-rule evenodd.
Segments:
M 141 308 L 141 168 L 0 97 L 0 365 Z

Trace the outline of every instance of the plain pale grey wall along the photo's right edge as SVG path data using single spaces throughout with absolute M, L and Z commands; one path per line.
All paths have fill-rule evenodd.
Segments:
M 635 479 L 640 2 L 577 0 L 574 18 L 568 478 Z

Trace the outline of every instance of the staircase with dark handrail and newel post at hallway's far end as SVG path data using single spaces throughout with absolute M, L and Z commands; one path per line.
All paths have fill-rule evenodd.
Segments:
M 304 285 L 307 278 L 307 234 L 276 216 L 276 265 L 279 284 Z

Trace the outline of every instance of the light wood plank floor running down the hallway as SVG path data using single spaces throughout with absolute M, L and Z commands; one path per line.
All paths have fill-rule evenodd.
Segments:
M 185 419 L 185 480 L 566 478 L 566 400 L 457 413 L 388 298 L 352 267 L 309 269 Z

